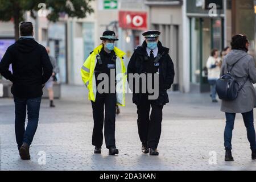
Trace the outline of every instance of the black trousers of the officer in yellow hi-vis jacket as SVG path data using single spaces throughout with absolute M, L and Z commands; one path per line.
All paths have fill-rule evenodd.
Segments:
M 101 147 L 103 143 L 103 126 L 106 147 L 115 147 L 115 109 L 117 104 L 116 94 L 97 93 L 96 101 L 92 102 L 93 109 L 93 146 Z M 104 117 L 105 106 L 105 117 Z

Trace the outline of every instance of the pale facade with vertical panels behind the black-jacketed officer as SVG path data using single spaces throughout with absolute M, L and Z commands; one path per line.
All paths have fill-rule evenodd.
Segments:
M 146 0 L 149 7 L 149 29 L 162 32 L 160 41 L 170 48 L 170 56 L 174 61 L 175 80 L 172 90 L 186 90 L 183 82 L 183 1 Z

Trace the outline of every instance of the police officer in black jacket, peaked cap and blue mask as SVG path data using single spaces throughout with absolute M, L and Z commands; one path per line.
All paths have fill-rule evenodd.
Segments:
M 146 31 L 142 35 L 145 37 L 145 41 L 142 46 L 135 49 L 127 68 L 128 81 L 133 91 L 133 102 L 137 105 L 137 122 L 142 152 L 159 155 L 157 148 L 162 128 L 162 110 L 163 106 L 169 102 L 167 90 L 174 82 L 174 64 L 168 54 L 169 49 L 163 47 L 159 41 L 159 31 Z M 135 78 L 131 77 L 135 73 L 140 76 L 142 74 L 148 76 L 150 73 L 158 74 L 158 76 L 152 76 L 151 80 L 150 77 L 147 77 L 146 82 L 140 80 L 140 89 L 137 93 Z M 154 80 L 156 78 L 157 80 Z M 133 79 L 133 84 L 131 84 L 131 79 Z M 158 97 L 154 100 L 149 97 L 151 93 L 148 90 L 146 93 L 142 91 L 142 87 L 150 81 L 153 83 L 154 90 L 159 89 Z M 151 114 L 150 109 L 152 109 Z

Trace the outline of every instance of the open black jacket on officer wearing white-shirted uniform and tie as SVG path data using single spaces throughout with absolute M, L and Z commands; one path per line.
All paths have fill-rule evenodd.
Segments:
M 147 55 L 147 43 L 143 42 L 142 46 L 137 47 L 134 50 L 133 56 L 131 56 L 130 62 L 128 64 L 127 73 L 128 73 L 128 82 L 129 74 L 138 73 L 139 75 L 143 72 L 143 68 L 147 64 L 146 59 Z M 157 105 L 164 105 L 169 102 L 167 90 L 171 88 L 171 85 L 174 82 L 174 63 L 169 55 L 169 49 L 162 46 L 162 43 L 158 42 L 158 54 L 162 55 L 159 60 L 159 97 L 154 100 L 154 103 Z M 135 89 L 130 85 L 130 88 Z M 141 87 L 141 85 L 140 85 Z M 133 103 L 138 105 L 141 102 L 141 93 L 134 93 L 133 91 Z

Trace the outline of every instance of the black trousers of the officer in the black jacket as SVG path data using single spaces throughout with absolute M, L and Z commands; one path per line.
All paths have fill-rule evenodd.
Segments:
M 151 114 L 150 114 L 150 109 Z M 148 100 L 147 94 L 142 94 L 141 104 L 137 105 L 138 131 L 141 142 L 149 148 L 158 148 L 162 131 L 163 105 L 156 105 Z

